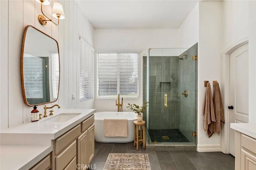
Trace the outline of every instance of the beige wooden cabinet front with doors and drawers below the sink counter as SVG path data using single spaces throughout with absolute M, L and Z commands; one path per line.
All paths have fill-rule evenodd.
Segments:
M 94 156 L 94 115 L 53 141 L 52 170 L 88 167 Z

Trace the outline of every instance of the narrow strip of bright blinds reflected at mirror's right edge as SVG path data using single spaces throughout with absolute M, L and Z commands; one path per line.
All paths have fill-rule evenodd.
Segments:
M 52 93 L 53 93 L 54 99 L 57 99 L 58 97 L 59 80 L 60 80 L 60 75 L 58 74 L 60 72 L 59 69 L 60 69 L 59 54 L 52 53 Z

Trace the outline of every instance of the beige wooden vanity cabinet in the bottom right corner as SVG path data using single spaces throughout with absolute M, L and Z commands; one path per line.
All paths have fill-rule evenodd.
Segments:
M 235 131 L 235 170 L 256 170 L 256 139 Z

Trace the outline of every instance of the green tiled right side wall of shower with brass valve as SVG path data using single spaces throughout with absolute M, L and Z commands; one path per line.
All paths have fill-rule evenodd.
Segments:
M 180 119 L 178 129 L 192 143 L 195 143 L 196 137 L 192 137 L 192 131 L 196 131 L 196 113 L 197 113 L 197 69 L 196 62 L 192 60 L 196 54 L 197 44 L 185 51 L 187 56 L 179 62 L 179 92 L 180 94 Z M 182 55 L 183 55 L 182 54 Z M 184 97 L 182 92 L 188 90 L 188 96 Z

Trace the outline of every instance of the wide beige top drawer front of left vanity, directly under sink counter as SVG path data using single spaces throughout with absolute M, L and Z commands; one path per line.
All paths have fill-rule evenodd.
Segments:
M 77 125 L 61 137 L 55 140 L 55 154 L 58 154 L 64 149 L 70 142 L 72 142 L 81 133 L 81 124 Z

